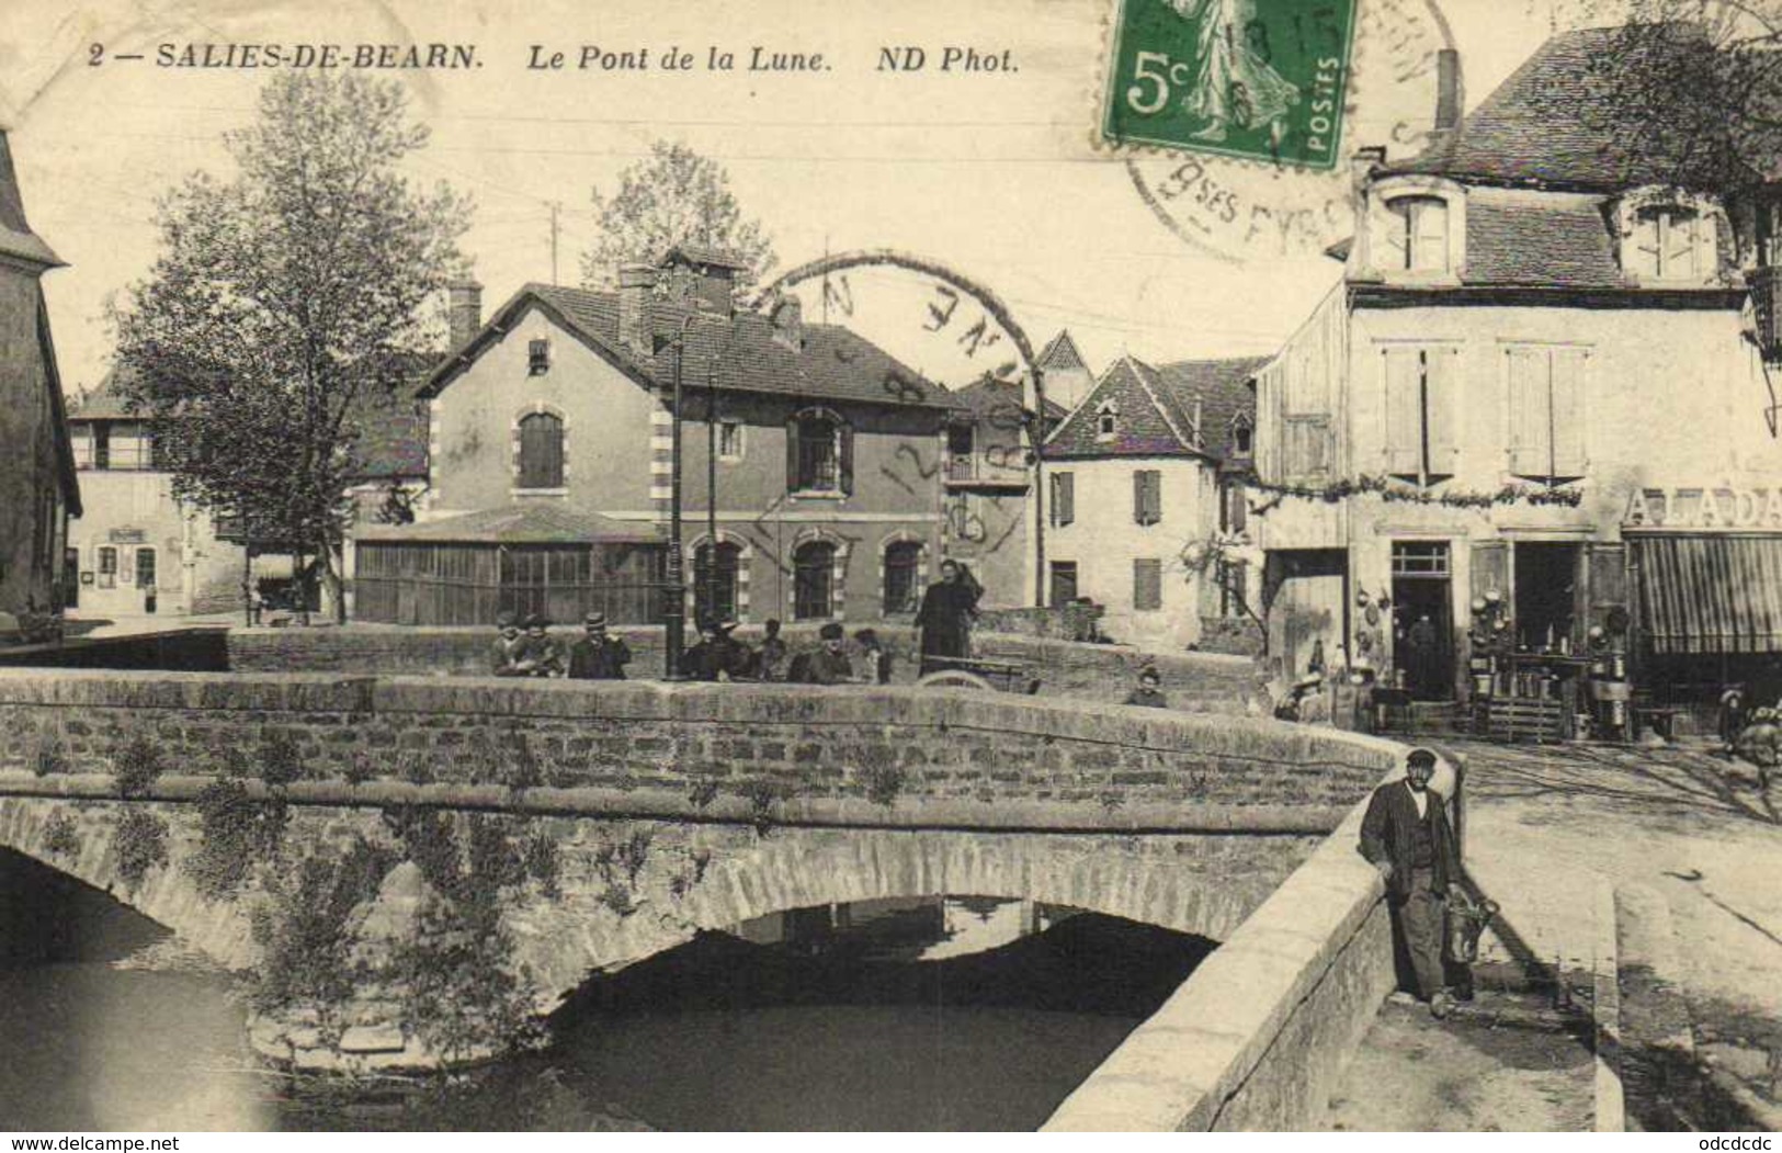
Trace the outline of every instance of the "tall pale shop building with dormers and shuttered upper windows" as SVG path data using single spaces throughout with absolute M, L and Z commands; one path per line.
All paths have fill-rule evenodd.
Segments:
M 1383 597 L 1415 697 L 1572 683 L 1566 729 L 1616 654 L 1654 707 L 1700 707 L 1782 650 L 1782 446 L 1741 271 L 1773 209 L 1629 148 L 1591 70 L 1614 36 L 1552 37 L 1465 119 L 1449 55 L 1435 144 L 1356 153 L 1342 283 L 1256 376 L 1251 524 L 1292 672 L 1353 661 Z

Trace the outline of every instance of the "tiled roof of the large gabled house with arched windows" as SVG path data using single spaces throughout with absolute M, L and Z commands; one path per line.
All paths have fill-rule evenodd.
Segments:
M 656 353 L 640 356 L 618 344 L 615 292 L 529 283 L 501 307 L 497 319 L 519 315 L 529 301 L 547 305 L 576 335 L 636 378 L 663 383 L 674 380 L 675 340 L 690 314 L 688 307 L 654 303 Z M 716 314 L 699 315 L 702 319 L 693 321 L 686 333 L 686 380 L 697 387 L 706 385 L 707 365 L 716 360 L 716 385 L 725 390 L 914 408 L 960 406 L 946 388 L 839 324 L 805 324 L 804 346 L 793 349 L 775 340 L 772 321 L 756 312 L 738 312 L 732 323 L 723 323 Z M 422 396 L 438 392 L 463 371 L 488 333 L 490 328 L 485 328 L 460 356 L 438 365 Z

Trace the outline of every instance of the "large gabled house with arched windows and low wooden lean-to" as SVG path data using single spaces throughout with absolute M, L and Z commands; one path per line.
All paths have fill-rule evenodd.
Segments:
M 656 620 L 677 372 L 690 608 L 911 613 L 937 565 L 959 403 L 846 328 L 805 324 L 797 299 L 734 308 L 738 269 L 681 246 L 622 269 L 617 292 L 526 285 L 486 323 L 460 287 L 454 351 L 421 390 L 424 517 L 360 535 L 360 617 Z

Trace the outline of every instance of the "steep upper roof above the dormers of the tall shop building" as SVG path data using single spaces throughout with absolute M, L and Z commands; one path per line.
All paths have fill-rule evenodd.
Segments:
M 1702 141 L 1666 132 L 1654 89 L 1627 84 L 1639 53 L 1675 55 L 1705 34 L 1688 23 L 1561 32 L 1497 86 L 1459 127 L 1390 173 L 1435 173 L 1484 184 L 1613 191 L 1700 184 L 1721 171 Z

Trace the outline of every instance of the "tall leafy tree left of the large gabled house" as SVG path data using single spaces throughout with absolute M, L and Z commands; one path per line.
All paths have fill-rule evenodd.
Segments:
M 175 494 L 249 544 L 319 556 L 335 592 L 358 474 L 351 415 L 405 387 L 463 269 L 469 201 L 410 187 L 422 148 L 397 82 L 283 73 L 225 135 L 235 175 L 159 207 L 160 255 L 118 315 L 123 390 Z

